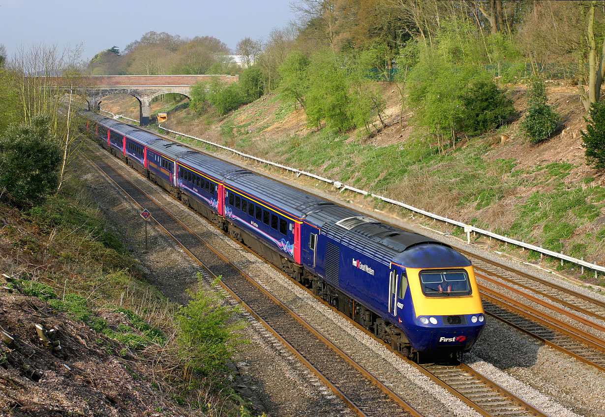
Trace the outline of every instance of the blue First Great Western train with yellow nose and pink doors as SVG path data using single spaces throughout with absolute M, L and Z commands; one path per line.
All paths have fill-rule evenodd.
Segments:
M 467 352 L 485 326 L 471 262 L 448 245 L 84 112 L 103 148 L 399 352 Z

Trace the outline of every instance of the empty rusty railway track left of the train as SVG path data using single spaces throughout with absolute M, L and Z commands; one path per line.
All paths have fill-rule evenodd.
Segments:
M 111 165 L 103 161 L 93 163 L 135 203 L 152 211 L 155 222 L 200 264 L 209 277 L 220 276 L 221 285 L 235 300 L 242 303 L 353 412 L 359 416 L 382 417 L 385 413 L 422 416 Z

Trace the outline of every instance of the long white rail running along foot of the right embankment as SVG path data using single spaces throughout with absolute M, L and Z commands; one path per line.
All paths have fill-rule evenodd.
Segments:
M 105 110 L 102 110 L 102 111 L 104 111 L 105 113 L 113 114 L 113 113 L 111 113 L 109 111 L 105 111 Z M 113 114 L 113 116 L 114 117 L 115 116 L 123 117 L 123 116 L 119 116 L 117 114 Z M 128 119 L 128 117 L 123 117 L 123 119 Z M 128 119 L 128 120 L 132 120 L 132 119 Z M 133 120 L 133 121 L 134 122 L 138 122 L 138 120 Z M 543 248 L 540 248 L 539 246 L 530 245 L 529 243 L 525 243 L 523 241 L 511 239 L 511 238 L 509 238 L 507 236 L 502 236 L 502 235 L 499 235 L 499 234 L 495 234 L 495 233 L 490 232 L 488 230 L 476 228 L 473 225 L 466 225 L 465 223 L 458 222 L 457 220 L 452 220 L 451 218 L 443 217 L 443 216 L 440 216 L 438 214 L 434 214 L 434 213 L 428 212 L 426 210 L 416 208 L 416 207 L 411 206 L 409 204 L 406 204 L 406 203 L 403 203 L 403 202 L 398 202 L 397 200 L 389 199 L 388 197 L 384 197 L 383 195 L 373 194 L 373 193 L 371 193 L 369 191 L 365 191 L 365 190 L 362 190 L 362 189 L 359 189 L 359 188 L 355 188 L 355 187 L 352 187 L 352 186 L 349 186 L 349 185 L 345 185 L 345 184 L 343 184 L 341 182 L 330 180 L 328 178 L 324 178 L 324 177 L 312 174 L 311 172 L 301 171 L 300 169 L 292 168 L 292 167 L 286 166 L 286 165 L 281 165 L 280 163 L 276 163 L 276 162 L 272 162 L 272 161 L 269 161 L 269 160 L 266 160 L 266 159 L 258 158 L 258 157 L 252 156 L 252 155 L 244 154 L 243 152 L 240 152 L 237 149 L 228 148 L 227 146 L 219 145 L 218 143 L 214 143 L 214 142 L 211 142 L 209 140 L 200 139 L 199 137 L 195 137 L 195 136 L 191 136 L 191 135 L 188 135 L 188 134 L 185 134 L 185 133 L 180 133 L 180 132 L 177 132 L 177 131 L 174 131 L 174 130 L 163 128 L 161 123 L 160 123 L 160 125 L 158 125 L 158 127 L 160 129 L 164 130 L 164 131 L 167 131 L 167 132 L 172 133 L 172 134 L 176 134 L 178 136 L 189 137 L 190 139 L 198 140 L 200 142 L 207 143 L 208 145 L 212 145 L 212 146 L 216 146 L 217 148 L 225 149 L 226 151 L 232 152 L 232 153 L 237 154 L 237 155 L 239 155 L 241 157 L 244 157 L 244 158 L 252 159 L 252 160 L 255 160 L 255 161 L 261 162 L 261 163 L 266 163 L 267 165 L 276 166 L 276 167 L 284 169 L 286 171 L 295 172 L 296 173 L 296 177 L 299 177 L 299 176 L 302 175 L 302 176 L 307 176 L 307 177 L 310 177 L 310 178 L 314 178 L 314 179 L 317 179 L 317 180 L 320 180 L 320 181 L 323 181 L 323 182 L 326 182 L 326 183 L 330 183 L 333 186 L 335 186 L 336 188 L 339 188 L 340 192 L 345 191 L 345 190 L 348 189 L 350 191 L 357 192 L 358 194 L 370 195 L 371 197 L 374 197 L 376 199 L 382 200 L 382 201 L 384 201 L 386 203 L 391 203 L 393 205 L 403 207 L 405 209 L 408 209 L 410 211 L 416 212 L 418 214 L 422 214 L 422 215 L 424 215 L 426 217 L 430 217 L 430 218 L 434 218 L 435 220 L 439 220 L 440 222 L 450 223 L 450 225 L 458 226 L 458 227 L 464 229 L 464 231 L 466 232 L 466 235 L 467 235 L 467 242 L 470 241 L 470 234 L 471 234 L 471 232 L 479 233 L 479 234 L 482 234 L 482 235 L 485 235 L 485 236 L 489 236 L 491 238 L 494 238 L 494 239 L 497 239 L 497 240 L 500 240 L 500 241 L 503 241 L 503 242 L 506 242 L 506 243 L 510 243 L 511 245 L 520 246 L 521 248 L 525 248 L 525 249 L 529 249 L 529 250 L 532 250 L 532 251 L 540 252 L 541 254 L 549 255 L 549 256 L 551 256 L 553 258 L 558 258 L 561 261 L 563 261 L 563 260 L 564 261 L 568 261 L 568 262 L 575 263 L 575 264 L 584 266 L 586 268 L 592 269 L 593 271 L 595 271 L 595 277 L 597 277 L 597 271 L 605 272 L 605 266 L 601 266 L 601 265 L 598 265 L 596 263 L 590 263 L 590 262 L 584 261 L 582 259 L 574 258 L 574 257 L 568 256 L 568 255 L 563 255 L 562 253 L 558 253 L 558 252 L 554 252 L 554 251 L 549 251 L 548 249 L 543 249 Z

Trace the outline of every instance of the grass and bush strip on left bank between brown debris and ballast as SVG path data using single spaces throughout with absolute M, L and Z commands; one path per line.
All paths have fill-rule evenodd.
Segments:
M 149 412 L 248 415 L 224 367 L 241 343 L 233 309 L 201 289 L 187 306 L 169 302 L 145 282 L 86 190 L 71 180 L 41 206 L 0 203 L 0 266 L 14 276 L 8 287 L 105 335 L 96 343 L 108 355 L 146 364 L 131 373 L 162 399 Z

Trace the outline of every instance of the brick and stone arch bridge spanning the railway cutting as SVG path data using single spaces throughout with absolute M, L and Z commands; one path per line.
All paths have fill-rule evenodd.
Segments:
M 82 96 L 88 102 L 88 110 L 98 111 L 103 97 L 110 94 L 130 94 L 139 100 L 140 125 L 149 124 L 151 100 L 160 94 L 178 93 L 189 97 L 191 86 L 196 82 L 218 77 L 226 82 L 237 81 L 237 75 L 110 75 L 53 77 L 56 87 L 67 85 L 82 89 Z

